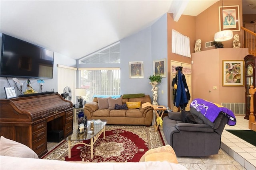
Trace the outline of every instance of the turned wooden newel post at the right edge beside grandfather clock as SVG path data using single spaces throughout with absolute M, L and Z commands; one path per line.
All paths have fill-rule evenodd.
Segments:
M 249 116 L 249 129 L 256 131 L 256 122 L 255 122 L 255 116 L 254 116 L 254 108 L 253 108 L 253 96 L 254 93 L 256 92 L 256 88 L 253 88 L 253 86 L 250 86 L 249 89 L 249 94 L 251 96 L 251 100 L 250 100 L 250 116 Z

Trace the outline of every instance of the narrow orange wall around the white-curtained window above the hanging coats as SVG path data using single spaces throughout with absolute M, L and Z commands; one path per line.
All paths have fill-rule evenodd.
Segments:
M 186 35 L 187 37 L 190 38 L 190 53 L 194 52 L 194 42 L 195 42 L 195 31 L 196 31 L 196 17 L 194 16 L 187 16 L 187 15 L 182 15 L 178 22 L 173 20 L 173 14 L 168 13 L 167 14 L 167 53 L 168 53 L 168 58 L 167 58 L 167 79 L 168 79 L 168 106 L 170 105 L 170 89 L 171 89 L 171 78 L 170 78 L 170 62 L 171 60 L 174 61 L 180 61 L 182 63 L 191 63 L 191 58 L 189 57 L 184 57 L 178 54 L 172 53 L 172 29 L 175 29 L 179 33 L 182 33 L 183 35 Z

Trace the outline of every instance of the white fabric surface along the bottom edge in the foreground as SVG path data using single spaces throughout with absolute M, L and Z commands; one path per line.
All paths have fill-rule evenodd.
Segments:
M 60 160 L 45 160 L 35 158 L 18 158 L 10 156 L 0 156 L 1 170 L 186 170 L 180 164 L 169 163 L 167 161 L 152 162 L 100 162 L 100 163 L 76 163 Z

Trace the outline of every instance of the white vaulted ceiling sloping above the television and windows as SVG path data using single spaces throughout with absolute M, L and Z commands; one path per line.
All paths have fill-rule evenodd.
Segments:
M 0 32 L 80 59 L 152 25 L 167 12 L 175 20 L 181 14 L 197 16 L 217 1 L 1 0 Z

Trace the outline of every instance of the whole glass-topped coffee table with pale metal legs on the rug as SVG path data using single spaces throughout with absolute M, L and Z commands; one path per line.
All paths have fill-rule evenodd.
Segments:
M 90 122 L 94 121 L 94 131 L 90 133 Z M 69 135 L 66 140 L 68 140 L 68 158 L 71 158 L 71 147 L 78 145 L 78 144 L 84 144 L 88 147 L 91 147 L 91 159 L 93 158 L 93 145 L 97 141 L 97 139 L 100 137 L 100 135 L 103 132 L 103 136 L 105 139 L 105 125 L 107 121 L 106 120 L 88 120 L 88 126 L 84 129 L 84 133 L 79 133 L 78 128 L 73 129 L 73 133 Z M 88 133 L 89 132 L 89 133 Z M 83 141 L 91 140 L 90 145 L 83 143 Z M 82 141 L 79 143 L 76 143 L 74 145 L 71 145 L 71 141 Z

